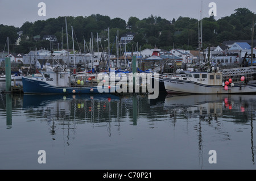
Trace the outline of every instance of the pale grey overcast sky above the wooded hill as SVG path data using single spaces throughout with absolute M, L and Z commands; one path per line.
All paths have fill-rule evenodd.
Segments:
M 40 2 L 46 4 L 46 16 L 38 15 Z M 0 24 L 21 27 L 24 22 L 92 14 L 122 18 L 126 23 L 131 16 L 139 19 L 151 15 L 167 20 L 179 16 L 200 19 L 201 15 L 209 17 L 210 2 L 216 3 L 215 19 L 230 16 L 240 7 L 256 11 L 256 0 L 0 0 Z

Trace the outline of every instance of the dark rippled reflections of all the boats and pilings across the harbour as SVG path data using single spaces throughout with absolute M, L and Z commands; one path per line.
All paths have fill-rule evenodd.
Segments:
M 154 140 L 150 129 L 162 132 L 163 128 L 159 123 L 163 123 L 163 127 L 167 127 L 170 132 L 177 131 L 181 137 L 184 136 L 184 132 L 185 136 L 191 136 L 189 139 L 195 141 L 191 142 L 198 150 L 197 158 L 201 169 L 205 160 L 203 157 L 205 154 L 206 157 L 208 156 L 209 150 L 205 150 L 207 145 L 212 142 L 228 144 L 232 142 L 240 146 L 235 140 L 239 132 L 250 135 L 241 139 L 246 142 L 246 149 L 250 150 L 251 161 L 253 164 L 255 162 L 253 124 L 256 98 L 254 95 L 161 94 L 158 99 L 148 99 L 144 94 L 73 96 L 1 94 L 0 98 L 5 102 L 0 106 L 0 113 L 6 114 L 7 128 L 14 127 L 13 116 L 22 115 L 26 117 L 27 122 L 46 123 L 47 136 L 51 136 L 53 142 L 60 140 L 61 136 L 65 146 L 71 145 L 71 140 L 79 137 L 76 133 L 78 129 L 83 131 L 93 129 L 97 134 L 107 134 L 107 137 L 116 138 L 116 134 L 113 136 L 113 128 L 114 133 L 117 131 L 122 134 L 126 131 L 125 127 L 131 126 L 144 131 L 145 136 L 153 137 Z M 105 131 L 103 133 L 102 128 Z M 131 131 L 131 128 L 127 129 Z M 166 137 L 170 137 L 168 140 L 170 142 L 164 142 L 167 148 L 173 147 L 168 144 L 176 144 L 175 141 L 171 142 L 175 139 L 170 132 L 164 133 Z M 158 142 L 161 141 L 158 140 L 155 144 L 157 145 Z M 124 148 L 127 148 L 126 145 Z

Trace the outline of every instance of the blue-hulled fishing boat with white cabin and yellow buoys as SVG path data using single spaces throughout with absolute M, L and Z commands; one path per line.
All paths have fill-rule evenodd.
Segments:
M 110 87 L 102 83 L 99 86 L 102 79 L 77 79 L 77 74 L 62 66 L 52 55 L 49 60 L 39 75 L 22 76 L 24 94 L 92 94 L 115 90 L 115 85 Z

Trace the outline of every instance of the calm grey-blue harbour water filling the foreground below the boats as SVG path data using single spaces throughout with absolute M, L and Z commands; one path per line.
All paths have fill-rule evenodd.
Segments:
M 255 95 L 0 94 L 0 101 L 2 170 L 256 169 Z M 210 150 L 217 163 L 209 163 Z

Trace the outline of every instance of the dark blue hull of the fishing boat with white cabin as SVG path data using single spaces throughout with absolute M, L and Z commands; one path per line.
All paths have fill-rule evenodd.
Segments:
M 24 94 L 97 94 L 110 93 L 115 91 L 115 87 L 81 86 L 81 87 L 63 87 L 52 86 L 40 79 L 22 77 Z M 102 88 L 102 89 L 101 89 Z

